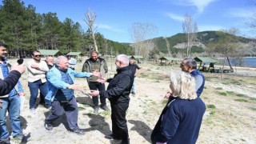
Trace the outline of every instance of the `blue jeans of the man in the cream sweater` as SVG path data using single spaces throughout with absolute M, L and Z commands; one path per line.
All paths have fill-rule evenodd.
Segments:
M 42 83 L 41 80 L 35 81 L 35 82 L 29 82 L 30 87 L 30 109 L 35 108 L 35 102 L 38 98 L 38 89 L 40 90 L 40 93 L 42 94 L 43 98 L 46 98 L 46 94 L 48 93 L 48 86 L 47 82 Z M 51 106 L 50 102 L 46 101 L 46 106 Z

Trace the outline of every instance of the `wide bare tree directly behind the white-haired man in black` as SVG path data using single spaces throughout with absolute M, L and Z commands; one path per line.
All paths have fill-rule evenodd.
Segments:
M 134 23 L 130 30 L 134 42 L 134 53 L 148 58 L 150 50 L 154 49 L 152 36 L 156 34 L 157 27 L 150 23 Z

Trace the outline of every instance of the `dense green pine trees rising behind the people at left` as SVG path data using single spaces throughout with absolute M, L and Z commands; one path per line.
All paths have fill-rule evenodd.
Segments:
M 99 33 L 95 37 L 101 54 L 132 53 L 129 45 L 108 40 Z M 30 54 L 38 49 L 61 50 L 63 54 L 70 51 L 87 54 L 94 47 L 90 30 L 82 30 L 80 23 L 71 18 L 61 22 L 57 14 L 52 12 L 38 14 L 36 7 L 25 6 L 19 0 L 2 1 L 0 42 L 9 46 L 8 51 L 12 56 Z

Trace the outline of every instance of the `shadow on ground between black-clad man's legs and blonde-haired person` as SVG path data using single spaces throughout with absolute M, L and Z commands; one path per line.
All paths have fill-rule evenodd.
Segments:
M 136 130 L 138 134 L 140 134 L 143 138 L 146 139 L 147 142 L 151 143 L 150 134 L 152 133 L 152 130 L 150 129 L 149 126 L 146 125 L 146 123 L 135 120 L 129 120 L 128 122 L 134 124 L 134 126 L 130 130 Z

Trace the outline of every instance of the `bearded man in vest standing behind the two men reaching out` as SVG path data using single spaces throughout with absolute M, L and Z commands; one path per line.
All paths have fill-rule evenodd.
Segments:
M 82 71 L 86 71 L 86 72 L 94 72 L 94 71 L 99 71 L 102 74 L 102 77 L 106 77 L 106 73 L 107 73 L 107 65 L 106 65 L 106 61 L 103 58 L 99 58 L 98 57 L 98 52 L 97 51 L 91 51 L 90 52 L 90 58 L 86 60 L 86 62 L 83 64 L 82 66 Z M 87 82 L 88 85 L 90 87 L 90 90 L 106 90 L 105 89 L 105 84 L 101 83 L 101 82 L 97 82 L 97 77 L 90 77 L 87 78 Z M 97 97 L 93 97 L 93 102 L 94 102 L 94 114 L 98 114 L 98 96 Z M 107 106 L 106 106 L 106 98 L 100 96 L 100 102 L 102 103 L 101 107 L 103 110 L 110 110 Z

